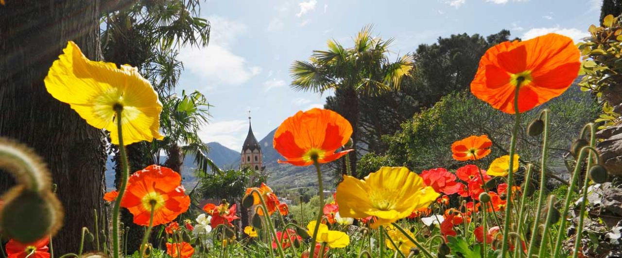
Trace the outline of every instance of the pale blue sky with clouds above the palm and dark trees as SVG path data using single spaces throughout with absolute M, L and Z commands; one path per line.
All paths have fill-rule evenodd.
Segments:
M 321 107 L 325 97 L 290 89 L 289 66 L 323 50 L 329 38 L 350 47 L 366 24 L 394 38 L 391 50 L 405 54 L 421 43 L 452 33 L 490 35 L 501 29 L 528 39 L 549 32 L 575 42 L 598 22 L 601 0 L 266 0 L 202 3 L 211 22 L 207 48 L 182 48 L 180 89 L 205 94 L 213 116 L 201 132 L 239 151 L 248 130 L 261 140 L 298 110 Z M 397 56 L 397 55 L 394 55 Z

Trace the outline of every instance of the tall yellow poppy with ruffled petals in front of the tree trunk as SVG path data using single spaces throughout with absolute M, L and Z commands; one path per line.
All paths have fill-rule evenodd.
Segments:
M 119 144 L 115 108 L 123 108 L 123 144 L 161 140 L 158 133 L 162 104 L 138 70 L 114 63 L 91 61 L 78 45 L 68 42 L 45 77 L 45 87 L 55 99 L 70 105 L 86 123 L 106 129 Z

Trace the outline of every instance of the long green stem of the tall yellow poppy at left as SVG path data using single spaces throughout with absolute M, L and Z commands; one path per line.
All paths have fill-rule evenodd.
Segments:
M 121 130 L 121 113 L 123 107 L 116 107 L 116 122 L 119 137 L 119 155 L 121 155 L 121 189 L 119 189 L 119 195 L 114 202 L 113 207 L 113 257 L 119 258 L 119 209 L 121 208 L 121 200 L 125 194 L 125 187 L 128 184 L 128 155 L 125 153 L 125 145 L 123 145 L 123 130 Z

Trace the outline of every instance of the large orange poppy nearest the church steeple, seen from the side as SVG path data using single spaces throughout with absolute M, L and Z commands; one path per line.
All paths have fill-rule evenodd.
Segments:
M 335 152 L 348 143 L 351 135 L 352 126 L 346 118 L 332 110 L 311 109 L 285 119 L 274 133 L 272 145 L 286 159 L 279 163 L 309 166 L 313 157 L 327 163 L 353 151 Z

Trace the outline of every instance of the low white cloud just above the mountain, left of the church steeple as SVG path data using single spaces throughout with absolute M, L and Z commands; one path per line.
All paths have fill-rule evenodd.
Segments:
M 216 141 L 227 148 L 242 149 L 248 120 L 225 120 L 204 125 L 199 133 L 201 140 Z

